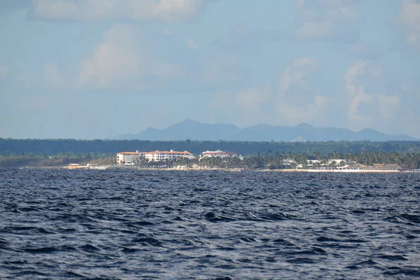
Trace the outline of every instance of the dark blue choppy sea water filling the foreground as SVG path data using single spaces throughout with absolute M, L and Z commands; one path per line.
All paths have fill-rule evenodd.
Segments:
M 420 174 L 0 169 L 0 279 L 223 277 L 420 277 Z

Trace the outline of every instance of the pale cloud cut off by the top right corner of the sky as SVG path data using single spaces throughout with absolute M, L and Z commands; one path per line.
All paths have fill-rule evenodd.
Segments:
M 401 0 L 400 22 L 407 32 L 406 41 L 409 45 L 420 46 L 420 2 L 416 0 Z

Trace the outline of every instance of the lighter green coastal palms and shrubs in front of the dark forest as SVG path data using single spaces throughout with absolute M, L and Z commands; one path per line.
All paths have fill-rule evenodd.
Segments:
M 137 160 L 139 167 L 176 167 L 184 165 L 186 167 L 214 167 L 214 168 L 251 168 L 251 169 L 286 169 L 295 168 L 297 165 L 307 167 L 307 160 L 318 160 L 318 165 L 325 164 L 328 160 L 346 160 L 346 163 L 358 162 L 362 165 L 373 165 L 375 163 L 397 164 L 405 169 L 420 169 L 420 153 L 385 153 L 385 152 L 365 152 L 362 153 L 269 153 L 265 155 L 250 155 L 244 160 L 239 158 L 204 158 L 202 160 L 167 160 L 160 162 L 148 162 L 144 158 Z M 292 162 L 286 165 L 285 162 Z M 69 163 L 94 163 L 97 165 L 114 165 L 116 157 L 94 158 L 89 153 L 87 155 L 71 155 L 65 153 L 53 157 L 30 155 L 0 156 L 0 167 L 55 167 L 68 165 Z M 333 167 L 333 166 L 331 166 Z

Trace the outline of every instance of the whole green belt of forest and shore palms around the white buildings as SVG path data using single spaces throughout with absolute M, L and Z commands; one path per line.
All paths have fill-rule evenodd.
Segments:
M 345 159 L 363 165 L 395 163 L 405 169 L 420 168 L 419 141 L 329 141 L 329 142 L 248 142 L 248 141 L 104 141 L 74 139 L 0 139 L 0 167 L 62 166 L 69 163 L 116 163 L 120 151 L 155 151 L 174 149 L 199 155 L 203 151 L 232 151 L 248 155 L 243 161 L 237 158 L 209 158 L 178 160 L 176 162 L 139 162 L 142 167 L 173 167 L 176 165 L 208 166 L 218 168 L 293 168 L 306 165 L 307 160 Z M 294 165 L 284 165 L 293 160 Z

